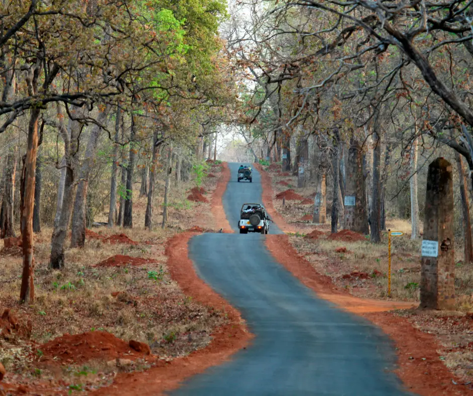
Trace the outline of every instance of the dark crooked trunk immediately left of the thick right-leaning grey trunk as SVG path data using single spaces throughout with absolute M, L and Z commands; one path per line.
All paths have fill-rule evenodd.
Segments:
M 62 200 L 61 216 L 57 226 L 54 227 L 51 237 L 51 256 L 49 268 L 60 269 L 64 266 L 64 244 L 69 228 L 70 211 L 74 200 L 74 170 L 70 159 L 67 160 L 66 179 L 64 184 L 64 199 Z

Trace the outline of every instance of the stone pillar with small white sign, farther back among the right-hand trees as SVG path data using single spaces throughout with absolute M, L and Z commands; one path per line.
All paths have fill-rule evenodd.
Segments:
M 345 228 L 361 234 L 369 233 L 366 216 L 365 182 L 361 162 L 361 147 L 355 140 L 350 141 L 347 164 L 347 184 L 345 189 Z

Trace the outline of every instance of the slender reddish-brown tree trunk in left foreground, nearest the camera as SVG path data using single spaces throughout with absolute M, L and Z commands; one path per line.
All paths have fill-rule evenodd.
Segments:
M 20 302 L 31 304 L 35 298 L 34 289 L 34 256 L 33 256 L 33 210 L 35 200 L 36 154 L 38 150 L 38 120 L 40 109 L 30 110 L 28 125 L 28 151 L 25 161 L 25 186 L 23 198 L 23 213 L 21 218 L 23 272 L 20 288 Z

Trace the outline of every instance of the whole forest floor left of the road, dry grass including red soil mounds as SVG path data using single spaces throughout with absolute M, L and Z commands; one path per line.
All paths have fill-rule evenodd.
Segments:
M 211 172 L 217 177 L 205 178 L 200 187 L 206 199 L 221 167 L 212 166 Z M 208 224 L 202 223 L 205 204 L 187 200 L 193 185 L 171 189 L 166 230 L 93 227 L 84 248 L 66 249 L 60 271 L 48 268 L 52 229 L 43 228 L 35 234 L 33 304 L 18 302 L 21 248 L 0 252 L 3 386 L 40 394 L 90 391 L 110 384 L 117 372 L 149 368 L 208 345 L 212 330 L 226 319 L 182 292 L 165 256 L 166 241 L 176 233 L 213 227 L 208 216 Z M 142 224 L 146 197 L 133 201 L 134 219 Z

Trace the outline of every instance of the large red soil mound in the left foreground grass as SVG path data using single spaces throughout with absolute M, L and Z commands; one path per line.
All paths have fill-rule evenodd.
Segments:
M 85 363 L 92 359 L 137 359 L 149 354 L 144 350 L 134 350 L 130 343 L 104 331 L 90 331 L 74 335 L 64 334 L 38 349 L 43 352 L 41 361 L 54 359 L 57 363 Z

